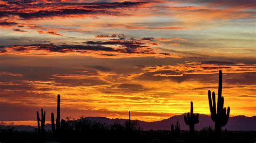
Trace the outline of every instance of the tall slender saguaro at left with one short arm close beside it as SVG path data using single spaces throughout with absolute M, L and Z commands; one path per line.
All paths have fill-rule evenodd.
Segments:
M 57 97 L 57 117 L 56 117 L 56 129 L 54 123 L 54 113 L 51 113 L 51 128 L 52 132 L 59 132 L 60 131 L 60 95 Z M 65 120 L 63 120 L 65 121 Z

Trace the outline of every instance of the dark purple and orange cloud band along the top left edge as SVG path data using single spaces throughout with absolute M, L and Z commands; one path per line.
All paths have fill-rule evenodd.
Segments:
M 79 15 L 123 15 L 121 9 L 136 8 L 144 2 L 122 3 L 23 3 L 1 2 L 0 17 L 18 16 L 24 19 L 77 17 Z M 54 9 L 52 9 L 54 8 Z

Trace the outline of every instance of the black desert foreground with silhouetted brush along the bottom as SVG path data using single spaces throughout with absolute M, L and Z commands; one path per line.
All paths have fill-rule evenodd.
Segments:
M 219 141 L 221 140 L 221 141 Z M 191 137 L 189 131 L 157 130 L 142 131 L 139 127 L 115 123 L 106 125 L 95 121 L 68 121 L 65 130 L 52 133 L 16 131 L 5 126 L 0 131 L 0 142 L 252 142 L 256 131 L 222 131 L 218 140 L 211 127 L 196 131 Z

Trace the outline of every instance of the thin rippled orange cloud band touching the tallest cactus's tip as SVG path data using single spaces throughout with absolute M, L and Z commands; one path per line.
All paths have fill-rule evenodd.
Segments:
M 219 69 L 224 73 L 254 73 L 256 65 L 245 65 L 242 63 L 231 63 L 222 61 L 192 62 L 173 66 L 143 67 L 145 73 L 152 76 L 184 76 L 190 74 L 217 74 Z

